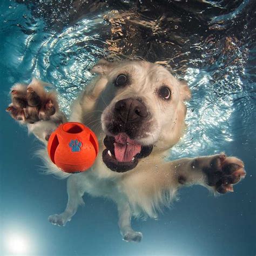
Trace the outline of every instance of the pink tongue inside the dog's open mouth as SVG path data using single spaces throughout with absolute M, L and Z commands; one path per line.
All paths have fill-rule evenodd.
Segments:
M 114 155 L 120 162 L 130 162 L 142 149 L 142 145 L 134 142 L 125 133 L 119 133 L 114 140 Z

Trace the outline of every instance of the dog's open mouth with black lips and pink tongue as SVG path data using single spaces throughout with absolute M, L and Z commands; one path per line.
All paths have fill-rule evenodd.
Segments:
M 140 158 L 149 156 L 153 146 L 142 146 L 127 136 L 119 133 L 117 136 L 106 136 L 104 139 L 106 149 L 102 153 L 105 165 L 115 172 L 127 172 L 138 164 Z

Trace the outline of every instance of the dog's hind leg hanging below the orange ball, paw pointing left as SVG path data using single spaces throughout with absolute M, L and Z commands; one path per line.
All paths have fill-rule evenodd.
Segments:
M 70 176 L 67 182 L 68 190 L 68 204 L 63 213 L 50 215 L 48 220 L 53 225 L 65 226 L 65 224 L 71 220 L 73 215 L 77 212 L 79 205 L 84 205 L 83 194 L 84 189 L 82 185 L 79 185 L 79 178 L 75 176 Z

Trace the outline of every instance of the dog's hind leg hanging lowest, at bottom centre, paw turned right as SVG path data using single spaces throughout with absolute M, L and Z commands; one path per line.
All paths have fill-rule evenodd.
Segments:
M 117 204 L 118 208 L 118 226 L 120 228 L 120 232 L 123 236 L 123 239 L 127 242 L 140 242 L 142 240 L 142 233 L 135 232 L 131 228 L 131 208 L 129 203 L 119 202 Z

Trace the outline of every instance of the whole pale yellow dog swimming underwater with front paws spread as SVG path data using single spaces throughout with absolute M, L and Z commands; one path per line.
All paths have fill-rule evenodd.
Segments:
M 95 164 L 85 172 L 67 174 L 51 163 L 46 150 L 39 152 L 48 173 L 68 177 L 68 205 L 63 213 L 50 215 L 52 224 L 70 221 L 87 192 L 116 202 L 123 239 L 140 241 L 142 233 L 131 228 L 132 215 L 155 218 L 180 187 L 199 184 L 226 193 L 245 177 L 242 161 L 224 153 L 165 161 L 183 136 L 184 101 L 191 94 L 186 83 L 163 66 L 102 59 L 91 72 L 98 76 L 73 103 L 69 121 L 83 123 L 97 134 L 100 151 Z M 14 85 L 7 111 L 47 144 L 51 132 L 67 119 L 45 85 L 37 79 L 28 86 Z

